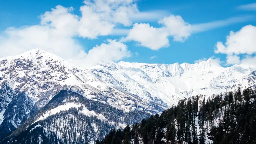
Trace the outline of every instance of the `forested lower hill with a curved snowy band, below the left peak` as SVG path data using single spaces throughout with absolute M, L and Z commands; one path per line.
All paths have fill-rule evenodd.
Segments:
M 66 108 L 60 109 L 63 107 Z M 111 129 L 124 128 L 125 124 L 148 116 L 147 112 L 124 112 L 77 92 L 62 90 L 12 133 L 0 131 L 7 136 L 0 144 L 93 143 Z

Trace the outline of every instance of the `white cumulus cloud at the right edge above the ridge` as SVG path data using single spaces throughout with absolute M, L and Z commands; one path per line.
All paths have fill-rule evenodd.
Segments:
M 217 42 L 215 45 L 215 53 L 226 54 L 227 64 L 240 64 L 256 53 L 256 27 L 247 25 L 239 31 L 233 32 L 226 37 L 226 42 Z M 246 55 L 246 58 L 240 58 L 239 55 Z M 255 65 L 255 63 L 254 63 Z

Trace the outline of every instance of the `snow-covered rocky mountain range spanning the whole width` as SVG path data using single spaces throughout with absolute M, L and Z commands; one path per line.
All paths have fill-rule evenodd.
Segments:
M 222 67 L 213 59 L 195 64 L 112 62 L 84 69 L 34 49 L 0 58 L 0 128 L 15 130 L 61 90 L 123 112 L 160 113 L 184 97 L 210 96 L 255 83 L 252 68 Z M 68 104 L 64 101 L 59 104 Z

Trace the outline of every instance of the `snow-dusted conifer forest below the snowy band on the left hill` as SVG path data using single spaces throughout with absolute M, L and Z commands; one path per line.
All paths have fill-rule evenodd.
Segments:
M 98 126 L 97 131 L 95 131 L 95 126 Z M 43 143 L 47 144 L 55 144 L 57 141 L 60 144 L 84 144 L 97 138 L 103 139 L 109 130 L 114 128 L 116 128 L 114 124 L 109 124 L 94 116 L 79 114 L 77 108 L 70 108 L 68 111 L 60 111 L 58 114 L 51 115 L 42 121 L 30 125 L 25 131 L 12 138 L 4 139 L 1 143 L 34 144 L 38 143 L 39 139 L 41 139 Z M 114 140 L 111 137 L 108 141 Z

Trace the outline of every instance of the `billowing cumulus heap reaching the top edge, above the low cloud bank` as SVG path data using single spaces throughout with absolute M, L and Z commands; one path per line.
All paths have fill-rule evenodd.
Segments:
M 49 25 L 63 34 L 91 39 L 112 33 L 116 24 L 130 26 L 130 15 L 140 13 L 133 1 L 85 0 L 81 16 L 72 14 L 73 8 L 56 6 L 41 15 L 41 25 Z

